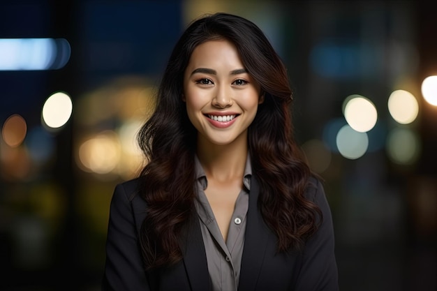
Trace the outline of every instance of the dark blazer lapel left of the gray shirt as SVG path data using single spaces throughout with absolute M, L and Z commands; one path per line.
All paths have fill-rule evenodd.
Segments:
M 184 264 L 188 281 L 192 291 L 211 290 L 207 267 L 207 255 L 203 245 L 202 232 L 198 217 L 193 218 L 193 223 L 188 227 L 185 242 Z

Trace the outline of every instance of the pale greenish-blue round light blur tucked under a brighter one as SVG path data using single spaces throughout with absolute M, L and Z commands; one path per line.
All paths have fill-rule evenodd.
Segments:
M 369 147 L 369 137 L 367 133 L 360 133 L 346 125 L 337 133 L 336 144 L 341 156 L 355 160 L 366 153 Z

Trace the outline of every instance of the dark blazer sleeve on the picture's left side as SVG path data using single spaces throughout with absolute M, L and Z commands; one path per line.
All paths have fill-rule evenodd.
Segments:
M 124 184 L 115 187 L 110 204 L 103 291 L 149 290 L 138 245 L 137 227 Z

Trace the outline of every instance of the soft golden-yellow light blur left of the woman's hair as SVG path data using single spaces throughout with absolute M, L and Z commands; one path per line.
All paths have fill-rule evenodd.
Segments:
M 108 174 L 117 167 L 121 147 L 117 135 L 106 130 L 84 143 L 79 148 L 80 163 L 91 172 Z

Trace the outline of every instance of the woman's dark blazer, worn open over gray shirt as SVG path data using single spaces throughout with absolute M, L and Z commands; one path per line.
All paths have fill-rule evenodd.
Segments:
M 115 188 L 102 290 L 212 290 L 198 220 L 188 230 L 182 261 L 165 269 L 145 271 L 138 232 L 147 215 L 147 206 L 140 195 L 135 195 L 137 188 L 138 179 Z M 332 217 L 320 182 L 311 179 L 306 197 L 323 211 L 323 223 L 302 253 L 276 253 L 276 236 L 258 211 L 258 195 L 258 182 L 252 179 L 238 290 L 339 290 Z

